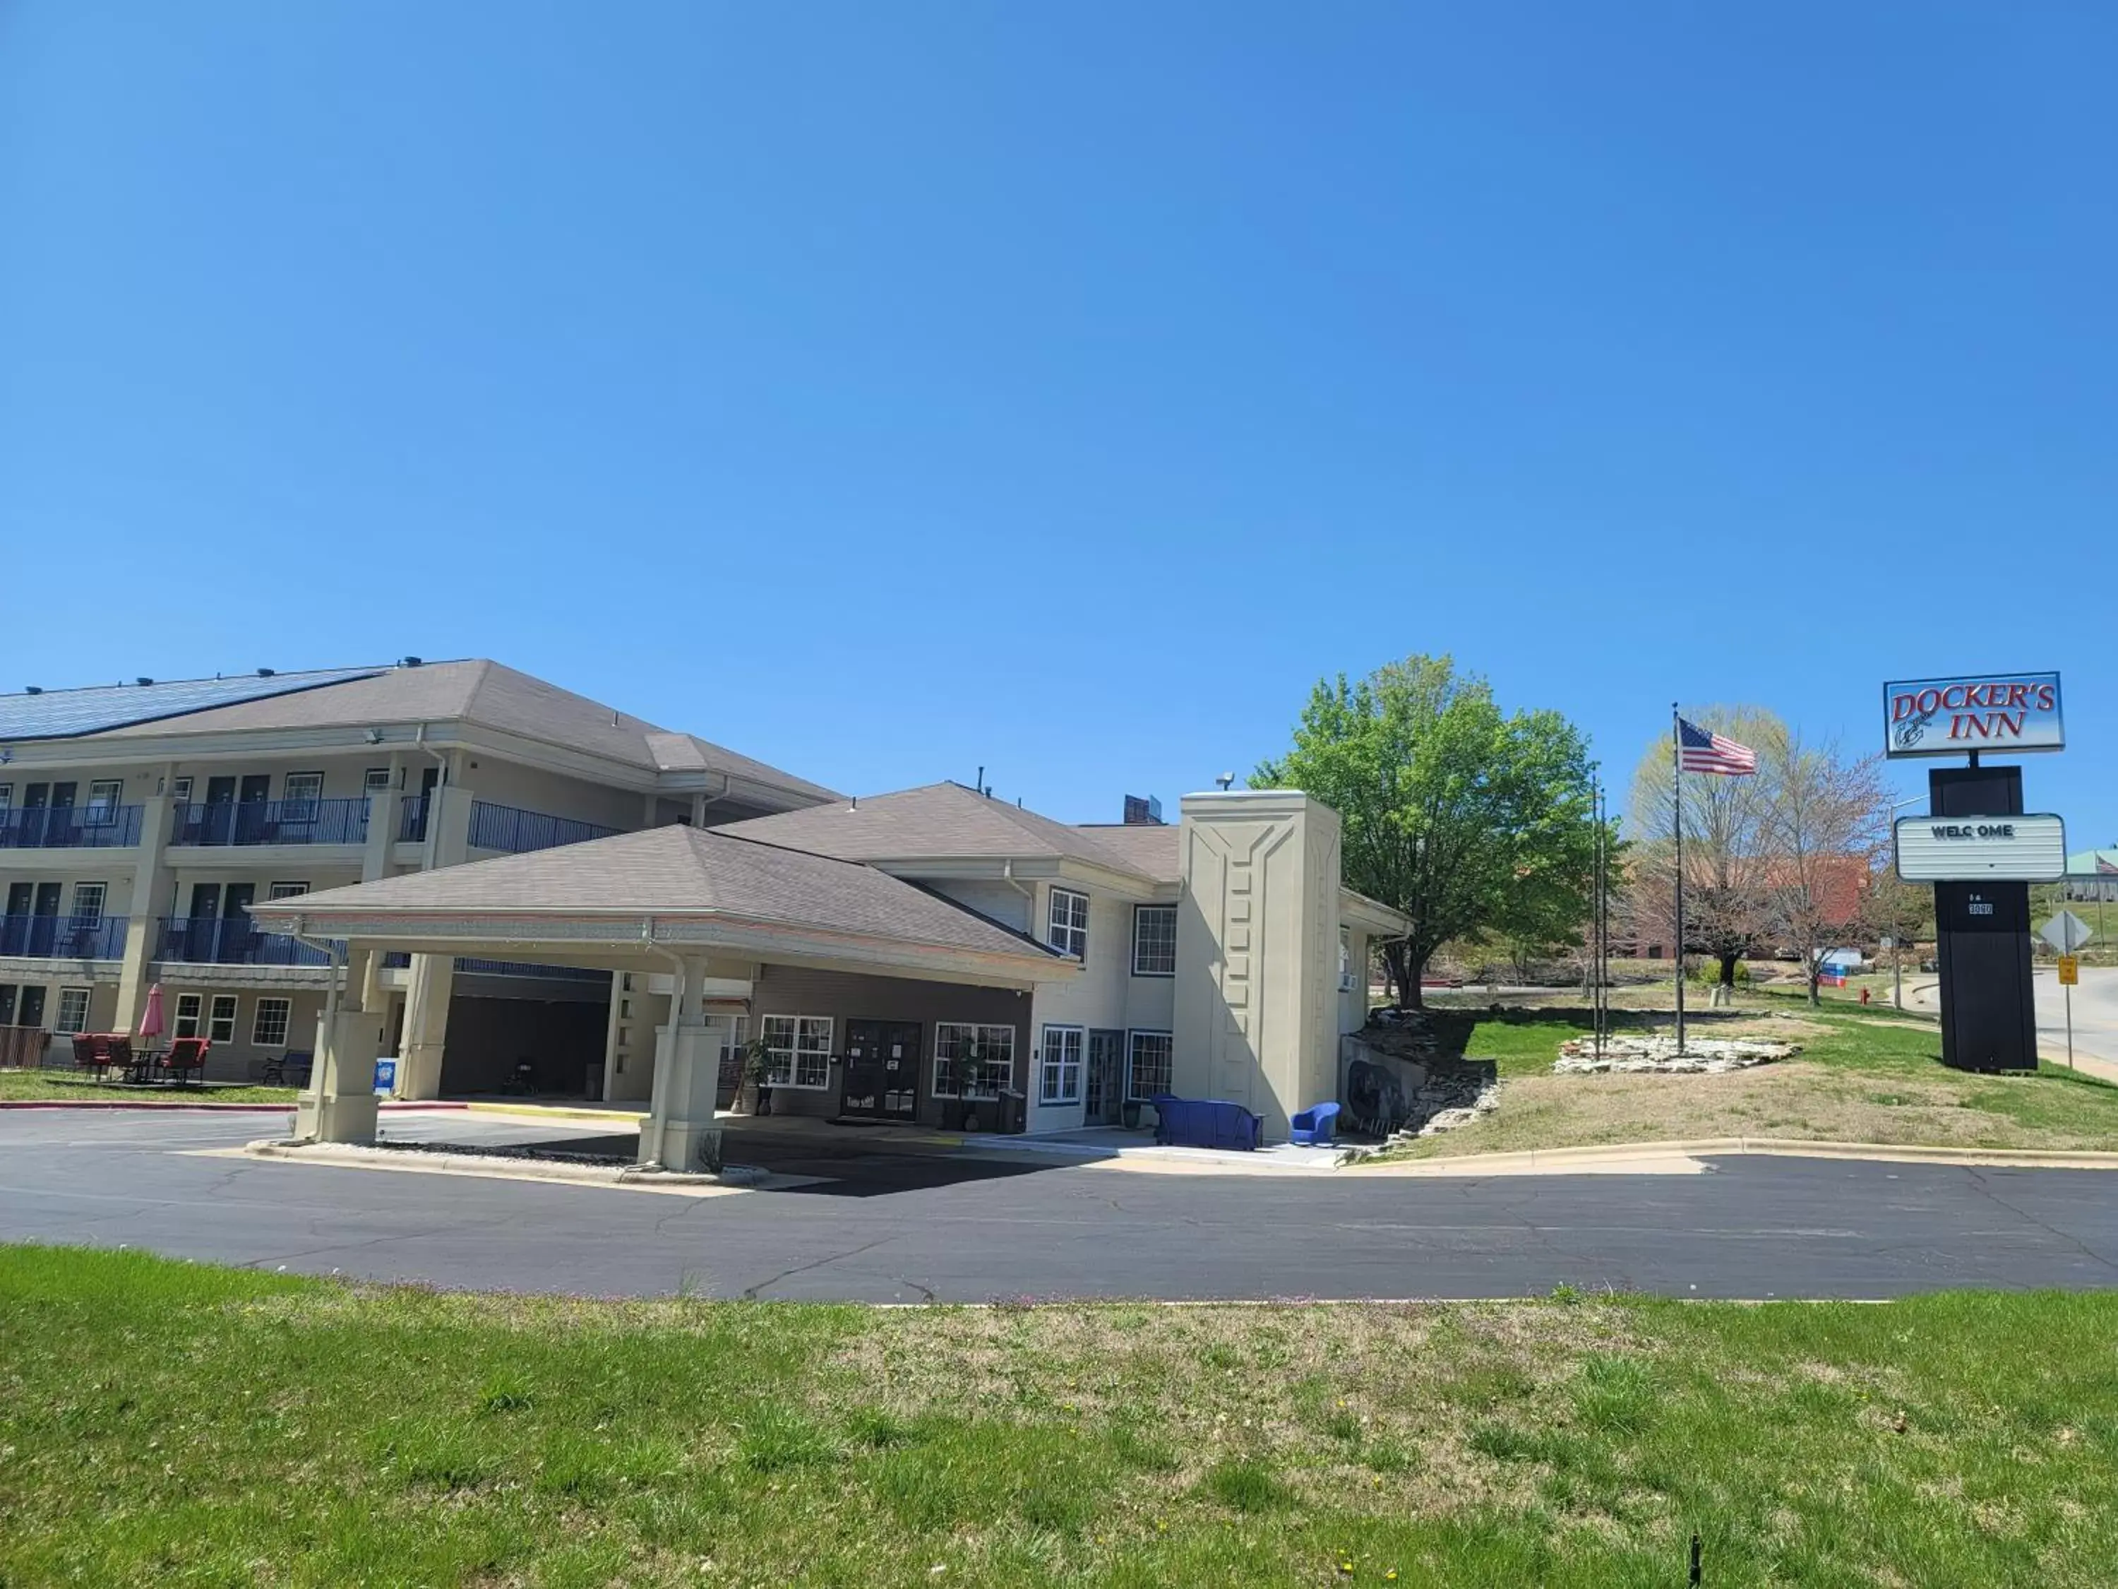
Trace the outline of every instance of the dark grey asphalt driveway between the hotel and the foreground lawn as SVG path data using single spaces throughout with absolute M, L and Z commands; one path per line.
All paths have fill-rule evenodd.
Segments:
M 1726 1159 L 1699 1176 L 1214 1176 L 826 1144 L 779 1165 L 828 1176 L 803 1191 L 678 1197 L 195 1153 L 265 1119 L 0 1112 L 0 1239 L 472 1290 L 837 1301 L 2118 1282 L 2103 1172 Z

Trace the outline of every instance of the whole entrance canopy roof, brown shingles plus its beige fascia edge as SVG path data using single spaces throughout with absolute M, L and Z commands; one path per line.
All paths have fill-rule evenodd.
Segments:
M 1078 962 L 849 860 L 667 826 L 252 905 L 267 932 L 638 968 L 771 962 L 1027 987 Z

